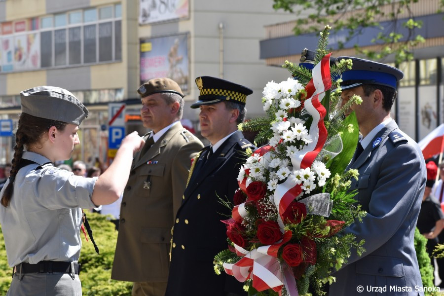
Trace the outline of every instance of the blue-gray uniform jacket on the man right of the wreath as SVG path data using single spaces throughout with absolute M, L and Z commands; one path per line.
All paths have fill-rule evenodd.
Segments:
M 413 245 L 426 183 L 420 148 L 392 120 L 349 168 L 359 171 L 351 189 L 358 190 L 355 199 L 367 216 L 346 232 L 357 241 L 365 239 L 366 252 L 358 257 L 351 250 L 348 264 L 333 273 L 336 283 L 329 295 L 424 295 L 415 288 L 422 288 L 422 281 Z M 385 287 L 386 292 L 368 292 L 370 287 Z

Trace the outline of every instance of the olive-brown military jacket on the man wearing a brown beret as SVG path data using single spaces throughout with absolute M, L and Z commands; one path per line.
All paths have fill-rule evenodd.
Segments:
M 202 147 L 178 122 L 143 155 L 136 153 L 120 207 L 112 279 L 167 281 L 171 227 L 191 159 Z

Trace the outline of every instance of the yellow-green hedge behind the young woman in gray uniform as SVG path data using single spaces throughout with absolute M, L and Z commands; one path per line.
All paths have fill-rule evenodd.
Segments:
M 82 264 L 80 281 L 82 293 L 86 296 L 131 296 L 132 283 L 111 280 L 111 267 L 114 259 L 117 231 L 106 216 L 88 213 L 88 221 L 93 229 L 94 240 L 100 255 L 94 251 L 91 241 L 86 242 L 83 233 L 82 250 L 79 262 Z M 6 260 L 3 233 L 0 231 L 0 295 L 5 295 L 11 283 L 12 268 Z

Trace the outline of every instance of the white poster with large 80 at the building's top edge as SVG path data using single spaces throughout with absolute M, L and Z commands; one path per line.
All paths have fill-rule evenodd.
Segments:
M 140 0 L 141 25 L 164 22 L 189 15 L 188 0 Z

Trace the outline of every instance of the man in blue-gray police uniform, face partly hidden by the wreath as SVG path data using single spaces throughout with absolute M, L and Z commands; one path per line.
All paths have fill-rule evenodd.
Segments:
M 366 251 L 359 257 L 352 250 L 347 264 L 333 273 L 336 283 L 329 295 L 424 295 L 413 236 L 426 184 L 425 161 L 418 145 L 390 118 L 404 74 L 369 60 L 341 59 L 353 61 L 342 74 L 343 103 L 355 94 L 363 100 L 346 115 L 356 112 L 362 133 L 348 168 L 359 171 L 351 189 L 357 189 L 355 199 L 367 211 L 346 232 L 364 239 Z

